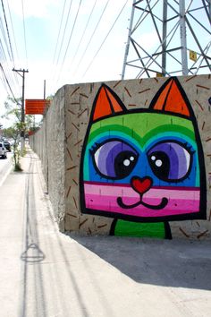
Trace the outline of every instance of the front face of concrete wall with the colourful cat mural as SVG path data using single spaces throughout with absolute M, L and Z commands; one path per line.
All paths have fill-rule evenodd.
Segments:
M 64 230 L 210 238 L 210 92 L 209 75 L 64 86 Z

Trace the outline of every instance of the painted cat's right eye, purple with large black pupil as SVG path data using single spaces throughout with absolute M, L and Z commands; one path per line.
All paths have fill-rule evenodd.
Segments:
M 148 161 L 154 174 L 166 182 L 179 182 L 190 172 L 191 155 L 182 143 L 165 141 L 148 151 Z

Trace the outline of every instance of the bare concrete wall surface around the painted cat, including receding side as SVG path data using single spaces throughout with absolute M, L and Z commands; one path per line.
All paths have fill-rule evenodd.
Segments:
M 211 91 L 210 75 L 179 77 L 178 79 L 198 120 L 207 173 L 207 220 L 172 221 L 170 225 L 173 237 L 210 238 L 211 129 L 209 123 L 211 111 L 208 102 Z M 151 78 L 105 83 L 122 99 L 128 109 L 133 109 L 148 108 L 150 101 L 165 81 L 166 78 Z M 80 210 L 80 153 L 89 124 L 93 100 L 100 85 L 101 82 L 74 84 L 66 85 L 59 90 L 46 114 L 41 131 L 36 133 L 32 143 L 33 149 L 38 152 L 41 159 L 43 158 L 44 171 L 48 170 L 50 199 L 61 223 L 60 227 L 66 231 L 80 232 L 83 235 L 108 234 L 113 221 L 112 218 L 82 215 Z M 49 124 L 50 120 L 51 124 Z M 47 126 L 46 135 L 48 135 L 46 144 L 43 136 L 46 129 L 45 124 Z M 55 135 L 55 139 L 52 137 L 53 135 Z M 44 154 L 45 152 L 46 154 Z M 47 162 L 48 167 L 46 167 Z

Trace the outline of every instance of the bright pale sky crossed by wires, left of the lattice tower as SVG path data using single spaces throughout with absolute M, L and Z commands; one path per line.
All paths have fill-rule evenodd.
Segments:
M 14 67 L 29 70 L 29 73 L 26 74 L 26 98 L 43 98 L 44 80 L 46 80 L 46 94 L 51 94 L 66 83 L 120 78 L 127 40 L 128 19 L 131 15 L 131 0 L 128 0 L 120 19 L 116 21 L 114 29 L 96 57 L 94 56 L 98 48 L 126 0 L 8 0 L 8 2 L 18 53 L 16 54 L 14 48 Z M 22 21 L 22 2 L 25 36 Z M 5 8 L 6 3 L 7 1 L 4 1 Z M 63 13 L 64 3 L 66 5 Z M 67 20 L 71 3 L 70 16 Z M 89 26 L 81 39 L 95 3 Z M 78 13 L 78 19 L 75 21 L 79 4 L 80 12 Z M 105 4 L 107 4 L 106 8 Z M 105 13 L 97 26 L 97 30 L 95 30 L 104 8 Z M 75 25 L 72 29 L 74 21 Z M 66 32 L 63 38 L 65 24 Z M 60 26 L 61 32 L 58 38 Z M 11 38 L 13 38 L 12 34 L 11 31 Z M 61 47 L 62 41 L 63 45 Z M 87 50 L 83 56 L 86 47 Z M 92 62 L 93 58 L 94 61 Z M 90 63 L 92 64 L 89 66 Z M 87 70 L 88 67 L 89 70 Z

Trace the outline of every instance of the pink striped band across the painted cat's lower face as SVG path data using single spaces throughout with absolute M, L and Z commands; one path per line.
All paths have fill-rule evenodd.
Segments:
M 199 211 L 199 189 L 192 191 L 150 189 L 143 196 L 143 201 L 149 205 L 159 205 L 162 198 L 166 197 L 168 203 L 162 210 L 152 210 L 143 205 L 131 209 L 123 209 L 117 203 L 117 197 L 122 197 L 123 203 L 131 205 L 139 201 L 139 194 L 132 188 L 121 186 L 106 186 L 85 184 L 86 206 L 93 210 L 102 210 L 136 217 L 162 217 L 180 215 Z

